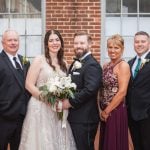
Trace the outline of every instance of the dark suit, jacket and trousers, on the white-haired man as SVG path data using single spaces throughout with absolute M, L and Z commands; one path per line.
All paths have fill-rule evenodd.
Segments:
M 18 57 L 22 62 L 22 56 Z M 17 136 L 20 136 L 19 132 L 30 97 L 25 90 L 25 77 L 29 65 L 29 62 L 22 64 L 23 72 L 20 76 L 7 54 L 4 51 L 0 53 L 0 150 L 6 149 L 8 142 L 11 143 L 10 135 L 14 138 L 14 142 L 11 143 L 12 149 L 15 150 L 13 147 L 19 144 Z

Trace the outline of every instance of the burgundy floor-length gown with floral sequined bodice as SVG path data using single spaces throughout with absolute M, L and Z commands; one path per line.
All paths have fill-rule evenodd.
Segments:
M 118 63 L 120 63 L 120 61 Z M 107 107 L 108 103 L 118 91 L 118 79 L 113 73 L 115 65 L 108 63 L 103 69 L 103 89 L 100 100 L 102 110 Z M 123 100 L 117 108 L 111 112 L 107 122 L 101 122 L 100 135 L 100 150 L 129 149 L 128 119 L 125 100 Z

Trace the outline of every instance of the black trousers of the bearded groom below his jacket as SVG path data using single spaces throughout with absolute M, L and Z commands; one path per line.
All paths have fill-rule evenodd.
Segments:
M 94 150 L 98 123 L 70 123 L 78 150 Z

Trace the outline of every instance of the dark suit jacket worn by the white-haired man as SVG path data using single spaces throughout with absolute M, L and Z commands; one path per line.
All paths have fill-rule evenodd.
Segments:
M 20 61 L 22 56 L 18 55 Z M 21 61 L 22 62 L 22 61 Z M 22 64 L 24 81 L 4 51 L 0 53 L 0 117 L 14 120 L 25 115 L 30 94 L 25 90 L 25 77 L 30 63 Z

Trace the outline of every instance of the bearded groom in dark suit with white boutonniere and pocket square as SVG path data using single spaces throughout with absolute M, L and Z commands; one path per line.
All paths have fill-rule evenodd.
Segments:
M 74 98 L 63 101 L 63 109 L 69 109 L 68 120 L 78 150 L 94 150 L 94 139 L 99 123 L 97 94 L 102 81 L 102 69 L 92 56 L 92 39 L 86 32 L 74 35 L 75 61 L 69 69 L 72 81 L 77 85 Z

